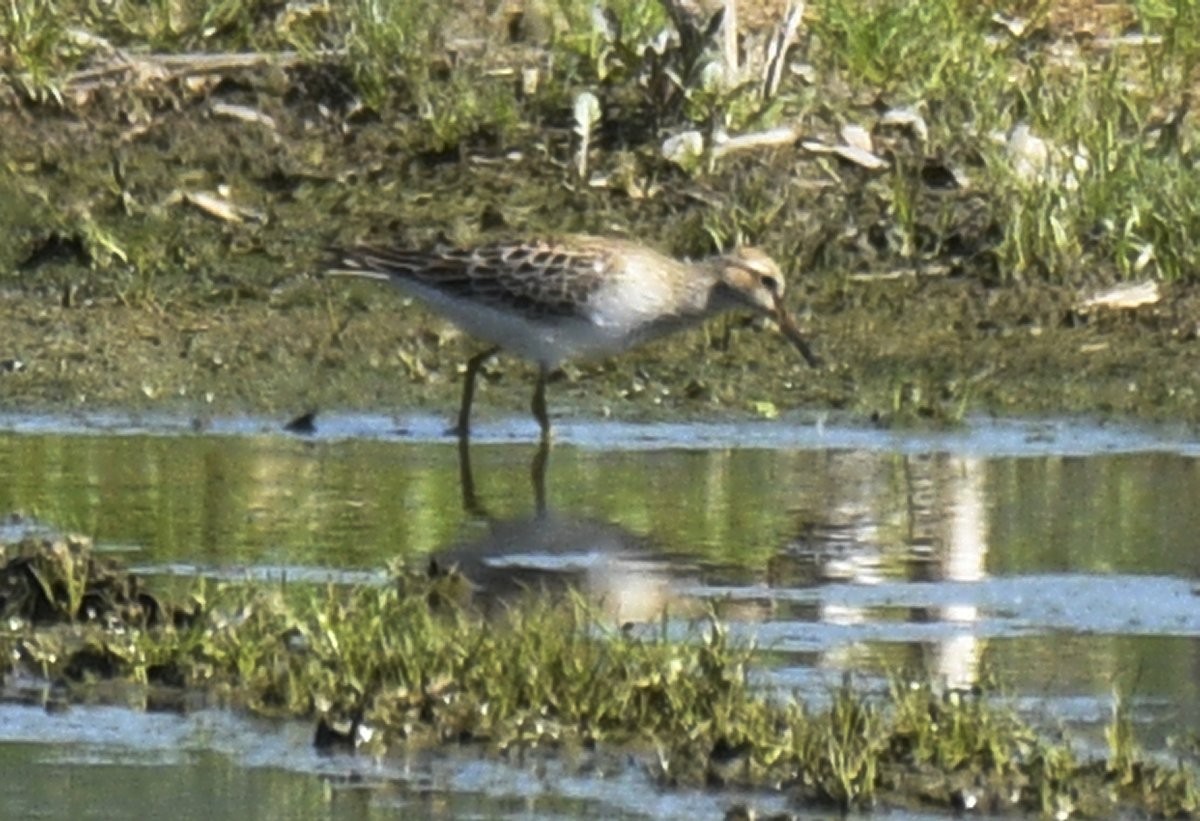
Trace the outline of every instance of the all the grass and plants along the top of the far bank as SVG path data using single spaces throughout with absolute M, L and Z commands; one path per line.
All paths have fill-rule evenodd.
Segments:
M 520 150 L 539 157 L 547 174 L 564 169 L 568 182 L 572 140 L 559 134 L 569 133 L 572 101 L 590 91 L 602 109 L 592 174 L 650 182 L 668 194 L 696 184 L 721 192 L 703 217 L 714 242 L 811 236 L 817 229 L 799 221 L 818 215 L 832 233 L 845 224 L 886 238 L 875 258 L 864 257 L 860 244 L 835 239 L 818 256 L 830 270 L 904 268 L 955 253 L 970 260 L 966 274 L 989 280 L 1193 280 L 1200 270 L 1196 144 L 1188 116 L 1188 89 L 1200 79 L 1194 6 L 1132 4 L 1132 25 L 1160 40 L 1116 46 L 1075 37 L 1051 5 L 1002 7 L 1027 22 L 1015 34 L 992 19 L 994 8 L 958 0 L 811 4 L 790 61 L 810 64 L 815 79 L 785 72 L 769 101 L 760 98 L 756 73 L 733 88 L 714 79 L 719 36 L 706 36 L 707 20 L 680 24 L 682 32 L 664 40 L 673 23 L 656 0 L 613 0 L 595 14 L 565 0 L 532 4 L 516 42 L 500 12 L 432 0 L 355 0 L 302 13 L 247 0 L 118 1 L 104 13 L 71 0 L 12 0 L 0 12 L 0 74 L 19 104 L 73 107 L 80 103 L 71 97 L 72 72 L 109 48 L 300 49 L 305 70 L 335 83 L 293 76 L 276 116 L 292 109 L 304 121 L 313 102 L 306 95 L 343 88 L 353 98 L 334 100 L 341 106 L 335 114 L 360 102 L 389 124 L 397 169 L 410 156 L 496 161 Z M 745 43 L 751 66 L 760 43 Z M 523 86 L 522 72 L 534 72 L 536 84 Z M 348 85 L 337 86 L 338 78 Z M 138 104 L 151 110 L 162 94 L 155 82 L 131 77 L 112 88 L 146 96 Z M 886 173 L 856 173 L 799 149 L 707 158 L 686 170 L 660 154 L 662 139 L 691 128 L 709 139 L 720 128 L 739 133 L 799 122 L 806 134 L 833 142 L 841 125 L 870 130 L 881 108 L 899 106 L 922 112 L 928 136 L 875 130 L 877 152 L 892 163 Z M 1042 173 L 1021 173 L 1007 145 L 1022 125 L 1044 140 L 1049 160 Z M 346 124 L 352 134 L 358 127 Z M 288 133 L 298 139 L 300 131 Z M 314 154 L 336 145 L 334 134 L 319 130 L 302 139 L 314 143 Z M 1086 167 L 1074 168 L 1076 155 Z M 931 191 L 922 178 L 931 163 L 953 169 L 968 187 Z M 462 169 L 461 187 L 476 187 L 474 178 L 486 173 Z M 804 193 L 829 178 L 833 191 Z M 764 186 L 773 196 L 751 202 Z M 608 223 L 636 228 L 644 220 L 637 198 L 584 188 L 580 199 Z M 674 210 L 689 210 L 682 205 Z M 404 221 L 421 218 L 428 215 Z M 119 227 L 98 214 L 94 223 L 104 223 L 121 246 Z M 101 264 L 120 264 L 106 244 L 89 242 L 101 250 Z M 684 245 L 692 251 L 695 242 Z M 145 256 L 137 247 L 125 253 Z

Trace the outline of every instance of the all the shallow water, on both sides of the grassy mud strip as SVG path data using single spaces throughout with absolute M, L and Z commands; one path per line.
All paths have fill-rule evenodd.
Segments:
M 666 607 L 682 624 L 715 603 L 772 651 L 764 685 L 814 700 L 844 671 L 882 687 L 890 670 L 920 669 L 960 687 L 998 678 L 1022 709 L 1068 724 L 1084 744 L 1097 741 L 1115 685 L 1132 693 L 1150 748 L 1200 729 L 1200 441 L 1187 431 L 574 424 L 539 483 L 523 421 L 485 427 L 466 454 L 440 427 L 322 418 L 300 437 L 256 419 L 0 418 L 0 511 L 20 514 L 0 535 L 80 531 L 145 571 L 220 577 L 376 583 L 397 555 L 436 556 L 491 595 L 581 585 L 622 621 Z M 142 754 L 163 743 L 155 721 L 200 720 L 4 709 L 0 760 L 22 777 L 6 779 L 0 805 L 60 802 L 64 814 L 77 809 L 70 797 L 35 785 L 64 772 L 80 790 L 101 771 L 142 778 Z M 29 721 L 40 730 L 23 735 Z M 88 735 L 107 721 L 126 730 Z M 530 774 L 478 759 L 394 762 L 400 774 L 360 773 L 348 789 L 330 786 L 304 732 L 266 766 L 236 733 L 226 743 L 188 732 L 164 743 L 186 754 L 150 757 L 197 785 L 186 799 L 197 815 L 221 813 L 205 802 L 222 791 L 247 802 L 306 795 L 364 816 L 413 801 L 444 815 L 653 803 L 656 816 L 733 801 L 709 796 L 697 809 L 700 797 L 626 774 L 620 792 L 632 798 L 616 807 L 588 795 L 589 779 L 536 774 L 552 763 Z M 491 786 L 476 789 L 470 773 Z

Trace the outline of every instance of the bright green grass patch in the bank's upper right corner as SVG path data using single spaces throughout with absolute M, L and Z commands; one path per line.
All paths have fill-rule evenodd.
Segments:
M 1147 32 L 1165 32 L 1160 46 L 1092 50 L 1074 48 L 1069 30 L 1039 42 L 1049 8 L 1019 8 L 1031 25 L 1014 36 L 972 4 L 829 0 L 814 50 L 860 92 L 919 103 L 926 154 L 983 160 L 965 170 L 1001 227 L 992 251 L 1003 278 L 1194 276 L 1195 146 L 1162 132 L 1183 102 L 1181 79 L 1195 77 L 1192 6 L 1134 8 Z M 1016 173 L 992 137 L 1021 124 L 1046 140 L 1044 175 Z M 1079 154 L 1086 168 L 1074 168 Z

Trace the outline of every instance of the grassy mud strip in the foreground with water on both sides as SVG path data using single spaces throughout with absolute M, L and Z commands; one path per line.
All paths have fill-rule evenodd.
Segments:
M 998 695 L 919 678 L 894 678 L 886 696 L 847 679 L 814 709 L 755 690 L 754 648 L 732 643 L 713 617 L 684 641 L 606 624 L 571 595 L 515 600 L 485 619 L 456 571 L 397 565 L 382 587 L 198 585 L 175 594 L 180 606 L 166 597 L 157 606 L 175 618 L 152 618 L 86 604 L 119 604 L 114 591 L 143 586 L 91 557 L 86 540 L 30 539 L 5 555 L 7 697 L 215 700 L 310 719 L 314 743 L 376 755 L 430 744 L 626 750 L 666 786 L 784 790 L 799 805 L 1200 809 L 1194 771 L 1140 754 L 1120 708 L 1106 760 L 1080 760 Z M 76 582 L 23 587 L 30 577 Z

